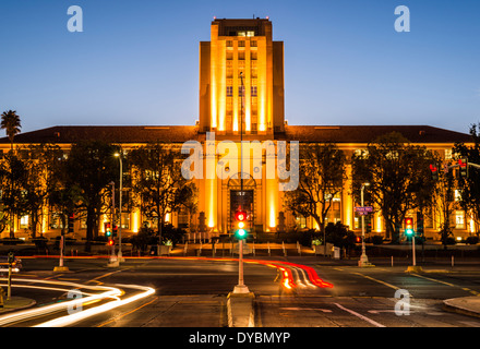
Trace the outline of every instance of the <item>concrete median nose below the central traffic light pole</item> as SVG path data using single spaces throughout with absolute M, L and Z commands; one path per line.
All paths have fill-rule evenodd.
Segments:
M 254 312 L 253 292 L 249 293 L 228 293 L 227 296 L 227 316 L 228 327 L 254 327 L 255 312 Z

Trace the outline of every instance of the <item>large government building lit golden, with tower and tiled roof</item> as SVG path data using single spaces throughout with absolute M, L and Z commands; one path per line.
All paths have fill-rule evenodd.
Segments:
M 365 149 L 377 136 L 396 131 L 411 144 L 427 146 L 449 158 L 456 142 L 471 142 L 468 134 L 430 125 L 293 125 L 287 123 L 284 106 L 284 43 L 273 39 L 272 22 L 268 19 L 215 19 L 211 24 L 209 41 L 200 43 L 199 118 L 196 121 L 192 120 L 192 125 L 58 125 L 20 133 L 14 137 L 14 146 L 52 143 L 68 154 L 75 142 L 93 139 L 119 144 L 128 153 L 129 149 L 148 142 L 167 142 L 178 145 L 179 148 L 185 142 L 197 142 L 205 155 L 203 176 L 193 179 L 199 189 L 197 213 L 193 217 L 188 213 L 172 213 L 168 220 L 175 226 L 187 227 L 189 231 L 197 231 L 199 222 L 204 221 L 209 233 L 224 234 L 231 232 L 235 212 L 239 205 L 247 209 L 250 228 L 254 231 L 276 232 L 280 216 L 285 216 L 287 231 L 317 226 L 312 218 L 296 217 L 285 210 L 285 192 L 279 190 L 279 179 L 267 173 L 269 158 L 265 152 L 260 157 L 251 157 L 241 166 L 229 164 L 225 169 L 233 169 L 229 171 L 230 176 L 218 177 L 208 173 L 218 173 L 216 166 L 219 166 L 220 159 L 215 151 L 213 155 L 208 153 L 208 146 L 217 149 L 221 142 L 231 141 L 238 146 L 240 154 L 243 151 L 239 147 L 240 141 L 273 144 L 276 151 L 279 142 L 333 142 L 349 159 L 356 152 Z M 0 140 L 0 147 L 3 153 L 10 151 L 8 137 Z M 275 154 L 277 153 L 274 153 L 274 160 L 277 160 Z M 213 156 L 214 166 L 207 164 L 208 156 Z M 249 172 L 242 178 L 240 173 L 243 172 L 243 166 L 249 168 Z M 361 220 L 353 209 L 359 203 L 353 201 L 350 193 L 349 165 L 346 170 L 349 179 L 343 184 L 341 193 L 332 198 L 327 221 L 341 221 L 360 233 Z M 473 231 L 471 219 L 465 212 L 457 210 L 454 216 L 455 221 L 452 224 L 455 237 L 465 238 Z M 122 215 L 122 233 L 128 237 L 139 232 L 144 221 L 140 210 L 132 207 Z M 436 219 L 425 218 L 425 236 L 439 239 L 436 232 L 440 224 Z M 85 221 L 75 222 L 74 237 L 84 237 L 85 228 Z M 27 229 L 28 217 L 16 217 L 15 236 L 26 237 Z M 101 231 L 104 228 L 99 229 Z M 53 213 L 44 215 L 37 231 L 49 238 L 60 234 L 58 217 Z M 380 214 L 372 217 L 372 232 L 385 233 Z M 1 237 L 8 234 L 7 228 Z

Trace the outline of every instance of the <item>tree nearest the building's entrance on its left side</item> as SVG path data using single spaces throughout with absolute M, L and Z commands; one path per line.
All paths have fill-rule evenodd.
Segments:
M 181 153 L 160 142 L 149 143 L 132 149 L 129 163 L 132 166 L 132 192 L 141 212 L 158 222 L 158 241 L 168 213 L 178 210 L 187 203 L 191 209 L 195 185 L 181 173 Z

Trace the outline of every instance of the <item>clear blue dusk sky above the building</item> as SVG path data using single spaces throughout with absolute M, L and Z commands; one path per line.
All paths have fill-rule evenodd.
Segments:
M 70 33 L 70 5 L 83 33 Z M 395 8 L 410 10 L 397 33 Z M 0 110 L 22 131 L 194 124 L 199 41 L 214 16 L 269 16 L 285 45 L 290 124 L 480 121 L 477 0 L 2 0 Z

